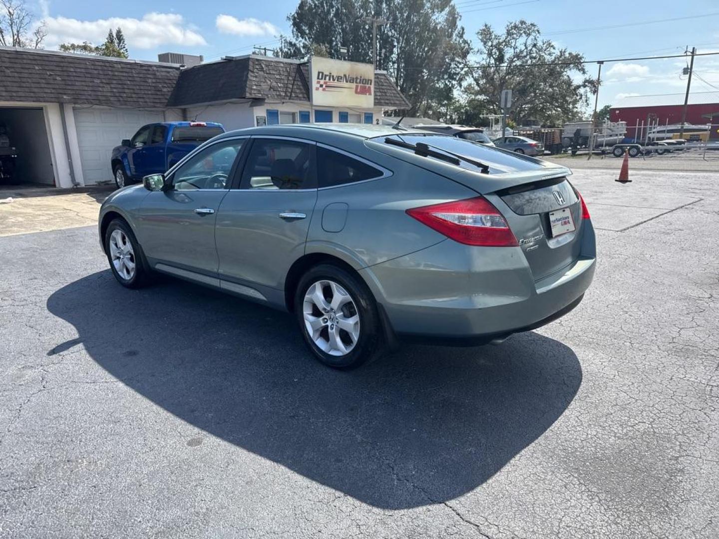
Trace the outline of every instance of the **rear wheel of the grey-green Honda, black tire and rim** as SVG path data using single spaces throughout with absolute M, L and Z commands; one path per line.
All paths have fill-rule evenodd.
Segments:
M 312 267 L 297 286 L 294 305 L 307 346 L 328 367 L 354 369 L 382 351 L 377 303 L 367 285 L 351 272 L 333 264 Z

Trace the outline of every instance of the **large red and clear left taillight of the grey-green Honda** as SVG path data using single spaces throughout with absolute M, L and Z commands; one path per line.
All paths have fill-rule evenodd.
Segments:
M 518 245 L 502 214 L 481 196 L 410 208 L 407 214 L 461 244 L 482 247 Z

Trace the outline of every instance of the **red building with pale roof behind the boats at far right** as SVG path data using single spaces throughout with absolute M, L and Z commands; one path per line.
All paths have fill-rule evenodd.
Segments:
M 644 122 L 659 123 L 659 126 L 682 123 L 684 93 L 664 93 L 654 96 L 626 96 L 618 99 L 610 113 L 611 121 L 626 121 L 627 135 L 635 136 L 635 128 Z M 687 106 L 687 124 L 705 126 L 713 124 L 709 130 L 711 139 L 719 139 L 719 93 L 690 93 Z

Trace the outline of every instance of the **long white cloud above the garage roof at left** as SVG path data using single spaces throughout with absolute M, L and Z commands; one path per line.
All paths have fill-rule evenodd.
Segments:
M 160 45 L 207 45 L 205 39 L 175 13 L 147 13 L 142 19 L 111 17 L 94 21 L 79 21 L 67 17 L 45 17 L 47 37 L 45 45 L 89 41 L 93 45 L 104 42 L 109 29 L 122 28 L 129 47 L 152 49 Z

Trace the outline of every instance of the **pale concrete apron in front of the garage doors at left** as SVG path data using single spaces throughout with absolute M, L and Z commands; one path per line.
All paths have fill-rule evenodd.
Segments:
M 0 236 L 97 224 L 100 204 L 113 187 L 0 187 Z

